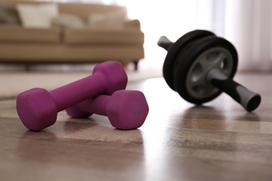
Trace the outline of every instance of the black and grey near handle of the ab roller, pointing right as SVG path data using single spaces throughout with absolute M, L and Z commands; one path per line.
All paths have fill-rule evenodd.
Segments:
M 261 96 L 253 93 L 244 86 L 236 83 L 234 80 L 229 79 L 219 68 L 212 68 L 206 75 L 206 80 L 231 96 L 236 102 L 239 102 L 247 111 L 256 109 L 260 102 Z

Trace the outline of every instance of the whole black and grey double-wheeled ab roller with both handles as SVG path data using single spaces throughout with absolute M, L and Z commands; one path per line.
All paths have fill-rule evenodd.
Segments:
M 232 80 L 238 56 L 229 41 L 210 31 L 196 30 L 174 43 L 163 36 L 158 45 L 167 50 L 163 77 L 184 100 L 202 104 L 225 92 L 247 111 L 259 106 L 259 94 Z

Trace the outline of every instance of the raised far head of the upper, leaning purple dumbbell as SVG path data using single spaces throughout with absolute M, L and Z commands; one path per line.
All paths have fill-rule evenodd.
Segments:
M 112 95 L 116 90 L 123 90 L 128 84 L 126 71 L 118 61 L 105 61 L 96 65 L 93 68 L 93 74 L 98 72 L 103 73 L 107 77 L 108 84 L 104 93 L 106 95 Z

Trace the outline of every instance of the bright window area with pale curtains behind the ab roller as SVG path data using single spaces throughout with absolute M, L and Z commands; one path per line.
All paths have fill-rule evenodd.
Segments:
M 45 1 L 45 0 L 43 0 Z M 167 52 L 160 36 L 175 42 L 194 29 L 213 31 L 234 44 L 240 71 L 269 72 L 271 61 L 271 0 L 50 0 L 126 6 L 144 32 L 144 61 L 139 68 L 161 69 Z

